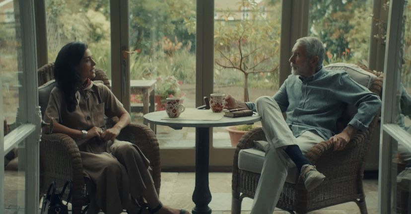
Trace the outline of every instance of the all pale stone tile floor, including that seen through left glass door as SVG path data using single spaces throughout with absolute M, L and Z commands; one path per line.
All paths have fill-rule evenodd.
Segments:
M 17 172 L 6 171 L 5 174 L 5 207 L 6 214 L 16 214 L 24 210 L 24 175 Z M 17 179 L 16 179 L 17 178 Z M 22 179 L 22 180 L 21 180 Z M 194 191 L 194 172 L 162 172 L 160 200 L 165 205 L 191 211 L 194 208 L 192 194 Z M 365 201 L 368 214 L 377 214 L 378 205 L 378 180 L 364 179 Z M 213 214 L 230 214 L 231 210 L 231 173 L 209 173 L 209 187 L 212 200 L 208 205 Z M 252 200 L 245 198 L 242 203 L 242 214 L 249 214 Z M 20 209 L 16 209 L 18 204 Z M 70 205 L 69 205 L 70 209 Z M 17 211 L 17 212 L 16 212 Z M 40 213 L 40 212 L 39 212 Z M 103 213 L 100 213 L 103 214 Z M 126 214 L 126 213 L 123 213 Z M 277 210 L 274 214 L 288 214 Z M 336 205 L 309 214 L 359 214 L 359 209 L 354 202 Z

